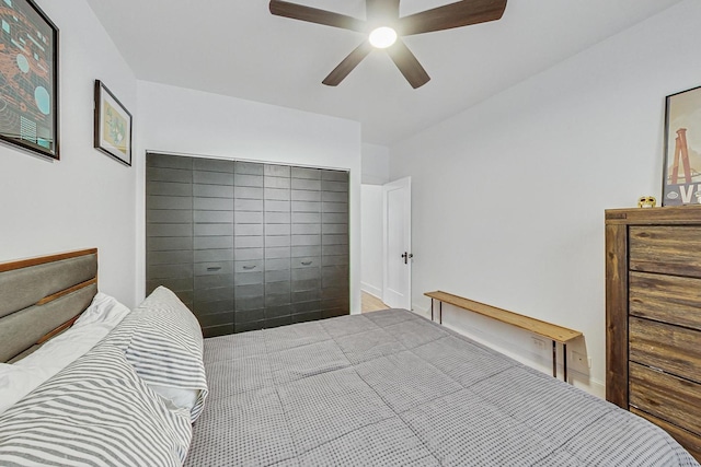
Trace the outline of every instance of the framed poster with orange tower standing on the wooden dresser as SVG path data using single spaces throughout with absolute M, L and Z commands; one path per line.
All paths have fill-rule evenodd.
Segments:
M 701 86 L 667 96 L 662 206 L 701 205 Z

